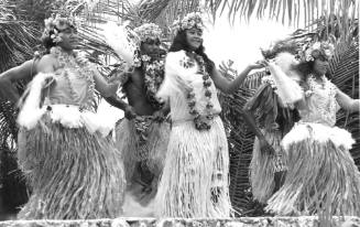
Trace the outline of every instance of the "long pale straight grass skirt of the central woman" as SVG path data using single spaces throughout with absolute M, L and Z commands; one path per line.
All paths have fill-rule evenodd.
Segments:
M 231 214 L 229 153 L 222 121 L 209 131 L 175 122 L 155 198 L 156 216 L 226 218 Z

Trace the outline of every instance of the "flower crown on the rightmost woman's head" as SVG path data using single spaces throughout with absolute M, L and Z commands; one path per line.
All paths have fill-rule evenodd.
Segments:
M 330 60 L 334 55 L 335 47 L 329 42 L 314 42 L 308 43 L 303 47 L 301 53 L 302 61 L 313 62 L 319 55 L 325 56 L 327 60 Z

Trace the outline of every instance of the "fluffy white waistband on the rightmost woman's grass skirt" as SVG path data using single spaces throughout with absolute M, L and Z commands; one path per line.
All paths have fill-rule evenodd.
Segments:
M 350 150 L 354 140 L 351 133 L 338 127 L 328 127 L 321 123 L 305 123 L 298 122 L 294 128 L 284 137 L 282 145 L 288 150 L 292 143 L 296 143 L 306 139 L 313 139 L 320 143 L 331 141 L 336 147 L 343 147 Z

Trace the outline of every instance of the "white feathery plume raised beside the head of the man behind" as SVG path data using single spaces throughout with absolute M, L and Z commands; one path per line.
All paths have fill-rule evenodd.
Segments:
M 118 25 L 114 22 L 108 22 L 103 25 L 103 36 L 106 43 L 127 63 L 128 67 L 132 66 L 140 39 L 128 28 L 128 24 Z

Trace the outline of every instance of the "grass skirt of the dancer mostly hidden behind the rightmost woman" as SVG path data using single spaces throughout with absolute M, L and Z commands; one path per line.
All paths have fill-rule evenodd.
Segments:
M 253 154 L 250 163 L 250 182 L 252 194 L 260 203 L 266 203 L 272 196 L 275 182 L 275 172 L 286 171 L 284 150 L 281 147 L 283 134 L 279 130 L 262 130 L 269 144 L 275 150 L 275 154 L 270 155 L 260 150 L 259 139 L 255 138 Z

